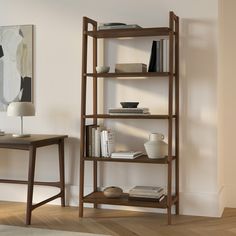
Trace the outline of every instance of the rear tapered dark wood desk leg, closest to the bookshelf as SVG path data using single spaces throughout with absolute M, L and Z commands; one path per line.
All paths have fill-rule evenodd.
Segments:
M 58 144 L 59 151 L 59 171 L 60 171 L 60 188 L 61 188 L 61 206 L 65 206 L 65 161 L 64 161 L 64 140 L 61 139 Z

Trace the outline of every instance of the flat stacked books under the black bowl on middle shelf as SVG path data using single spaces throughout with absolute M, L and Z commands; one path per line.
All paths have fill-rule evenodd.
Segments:
M 148 115 L 150 114 L 148 108 L 110 108 L 108 109 L 110 115 Z

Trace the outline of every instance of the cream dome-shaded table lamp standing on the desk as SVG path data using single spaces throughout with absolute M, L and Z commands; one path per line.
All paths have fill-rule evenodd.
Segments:
M 13 134 L 13 137 L 23 138 L 29 137 L 30 134 L 23 133 L 23 116 L 34 116 L 35 109 L 34 105 L 31 102 L 12 102 L 8 105 L 7 108 L 8 116 L 20 116 L 21 118 L 21 130 L 20 134 Z

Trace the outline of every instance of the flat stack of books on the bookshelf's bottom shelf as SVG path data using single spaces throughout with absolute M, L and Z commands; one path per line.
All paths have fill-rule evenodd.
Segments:
M 162 187 L 153 186 L 135 186 L 129 191 L 129 199 L 157 201 L 160 202 L 165 198 L 165 191 Z

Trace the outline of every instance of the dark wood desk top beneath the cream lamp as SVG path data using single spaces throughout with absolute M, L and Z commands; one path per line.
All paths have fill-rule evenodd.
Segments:
M 12 134 L 5 134 L 0 136 L 0 147 L 5 145 L 46 146 L 53 143 L 58 143 L 60 140 L 63 140 L 67 137 L 67 135 L 32 134 L 30 137 L 16 138 L 12 137 Z

